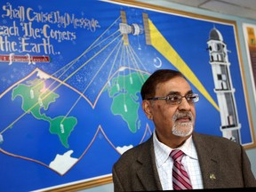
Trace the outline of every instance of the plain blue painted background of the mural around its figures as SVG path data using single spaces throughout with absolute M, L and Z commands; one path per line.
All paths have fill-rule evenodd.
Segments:
M 172 47 L 204 84 L 216 103 L 217 98 L 213 92 L 212 68 L 209 64 L 206 42 L 209 40 L 212 28 L 217 28 L 230 51 L 228 59 L 231 63 L 232 83 L 236 89 L 239 122 L 242 124 L 241 139 L 243 144 L 252 142 L 237 57 L 234 26 L 96 0 L 86 1 L 86 3 L 78 0 L 65 2 L 57 0 L 54 4 L 58 4 L 58 6 L 49 1 L 4 0 L 1 2 L 1 16 L 7 14 L 4 6 L 7 6 L 8 2 L 9 5 L 12 5 L 12 10 L 18 10 L 22 6 L 25 10 L 32 8 L 33 12 L 37 13 L 60 12 L 60 15 L 68 13 L 70 16 L 75 15 L 75 18 L 87 19 L 87 21 L 91 21 L 90 24 L 93 24 L 92 20 L 97 20 L 99 23 L 96 28 L 92 28 L 90 25 L 84 26 L 85 28 L 77 26 L 75 28 L 73 23 L 70 23 L 67 28 L 64 28 L 63 25 L 59 28 L 57 23 L 31 21 L 34 29 L 42 29 L 44 25 L 48 25 L 49 34 L 50 29 L 52 29 L 52 33 L 68 31 L 75 34 L 76 38 L 73 40 L 58 42 L 53 37 L 50 38 L 54 49 L 54 53 L 50 54 L 44 49 L 40 52 L 11 52 L 6 47 L 1 47 L 0 55 L 11 53 L 26 55 L 29 53 L 31 56 L 46 55 L 51 59 L 50 62 L 36 62 L 29 65 L 28 62 L 13 62 L 10 65 L 8 62 L 0 62 L 0 132 L 4 139 L 0 144 L 1 191 L 30 191 L 111 174 L 112 164 L 120 156 L 117 147 L 136 146 L 150 137 L 154 126 L 146 119 L 141 108 L 138 111 L 132 111 L 132 113 L 137 112 L 138 115 L 135 122 L 138 129 L 136 132 L 131 132 L 124 116 L 113 114 L 111 111 L 113 98 L 109 96 L 109 84 L 113 85 L 114 80 L 120 80 L 130 74 L 148 76 L 157 69 L 156 65 L 160 64 L 156 61 L 162 62 L 161 68 L 174 67 L 153 46 L 146 44 L 144 33 L 139 36 L 129 35 L 129 52 L 135 55 L 135 59 L 133 59 L 136 60 L 134 62 L 136 65 L 131 60 L 131 65 L 128 65 L 127 60 L 122 58 L 120 53 L 122 51 L 112 53 L 117 50 L 116 47 L 123 44 L 123 36 L 119 36 L 120 32 L 118 32 L 119 23 L 122 22 L 121 11 L 126 13 L 129 25 L 137 23 L 142 28 L 142 13 L 147 13 L 148 18 L 152 20 L 169 44 L 172 44 Z M 26 16 L 25 18 L 28 19 Z M 28 24 L 29 22 L 14 18 L 14 15 L 12 18 L 4 16 L 0 21 L 0 26 L 12 27 L 13 22 L 19 28 L 20 36 L 2 34 L 2 41 L 7 37 L 10 42 L 20 43 L 20 37 L 24 35 L 22 27 L 24 23 Z M 2 31 L 4 30 L 2 29 Z M 33 44 L 42 44 L 44 38 L 44 36 L 23 37 L 28 38 L 26 41 Z M 120 50 L 122 49 L 120 48 Z M 72 67 L 68 68 L 69 66 Z M 125 69 L 121 70 L 121 67 L 125 67 Z M 51 117 L 68 114 L 77 119 L 76 127 L 68 137 L 68 148 L 61 145 L 56 134 L 49 132 L 47 122 L 38 120 L 29 113 L 22 116 L 24 111 L 21 108 L 21 97 L 18 96 L 12 100 L 12 91 L 18 84 L 28 85 L 29 81 L 38 78 L 36 76 L 38 75 L 37 68 L 50 76 L 45 84 L 54 83 L 54 86 L 61 84 L 58 89 L 54 90 L 60 97 L 52 102 L 47 110 L 41 108 L 41 113 Z M 141 84 L 142 82 L 138 80 L 135 83 Z M 132 90 L 123 88 L 124 90 L 121 90 L 120 94 L 132 92 Z M 132 89 L 131 86 L 130 88 Z M 193 85 L 192 89 L 198 92 Z M 140 104 L 140 90 L 132 95 L 132 99 L 134 103 Z M 71 108 L 71 112 L 68 113 Z M 18 119 L 19 116 L 22 117 Z M 14 124 L 12 124 L 13 122 Z M 11 124 L 12 126 L 10 126 Z M 6 127 L 8 129 L 5 130 Z M 200 102 L 196 103 L 196 131 L 221 136 L 220 113 L 201 94 Z M 63 155 L 70 150 L 73 151 L 71 157 L 76 158 L 77 163 L 73 164 L 67 172 L 61 175 L 60 172 L 49 167 L 55 156 Z

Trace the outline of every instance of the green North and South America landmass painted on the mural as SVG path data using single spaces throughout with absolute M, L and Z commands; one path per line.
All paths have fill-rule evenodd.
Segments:
M 31 85 L 19 84 L 12 90 L 12 100 L 20 96 L 22 99 L 21 108 L 26 113 L 31 113 L 36 119 L 48 122 L 50 124 L 50 132 L 58 134 L 62 145 L 68 148 L 68 137 L 76 126 L 76 118 L 57 116 L 52 119 L 50 116 L 41 114 L 41 108 L 47 110 L 49 105 L 60 96 L 55 92 L 45 89 L 44 81 L 40 79 L 28 83 Z

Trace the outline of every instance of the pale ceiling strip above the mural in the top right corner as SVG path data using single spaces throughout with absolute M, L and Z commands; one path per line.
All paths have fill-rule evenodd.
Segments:
M 212 12 L 256 20 L 256 0 L 163 0 Z M 153 3 L 154 1 L 150 1 Z

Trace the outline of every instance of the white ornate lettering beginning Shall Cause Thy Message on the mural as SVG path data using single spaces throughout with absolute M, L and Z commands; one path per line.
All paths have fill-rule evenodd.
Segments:
M 54 45 L 64 41 L 75 42 L 76 28 L 84 28 L 91 32 L 100 28 L 98 20 L 76 18 L 75 14 L 67 12 L 36 12 L 24 6 L 14 8 L 10 3 L 4 4 L 2 8 L 2 52 L 60 54 L 54 49 Z

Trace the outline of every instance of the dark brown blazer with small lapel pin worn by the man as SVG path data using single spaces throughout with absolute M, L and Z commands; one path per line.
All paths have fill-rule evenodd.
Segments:
M 256 180 L 244 148 L 223 137 L 193 133 L 204 188 L 255 188 Z M 112 169 L 114 189 L 162 190 L 156 169 L 153 136 L 127 150 Z

